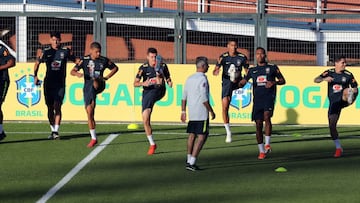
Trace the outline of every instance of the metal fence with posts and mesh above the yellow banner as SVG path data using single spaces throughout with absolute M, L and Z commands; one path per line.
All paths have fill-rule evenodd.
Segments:
M 327 65 L 339 54 L 358 64 L 359 23 L 358 0 L 0 0 L 1 41 L 18 61 L 33 61 L 58 30 L 76 55 L 95 40 L 117 62 L 141 62 L 150 46 L 167 62 L 214 62 L 236 39 L 251 61 L 262 46 L 278 64 Z

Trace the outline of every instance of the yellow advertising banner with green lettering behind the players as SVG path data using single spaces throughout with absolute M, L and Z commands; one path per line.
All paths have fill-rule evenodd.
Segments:
M 117 64 L 119 72 L 109 79 L 106 89 L 97 97 L 96 121 L 141 122 L 142 88 L 134 88 L 133 82 L 141 64 Z M 173 87 L 167 87 L 165 97 L 154 107 L 152 121 L 180 122 L 181 98 L 186 78 L 195 72 L 195 65 L 169 64 Z M 68 64 L 70 72 L 73 64 Z M 221 76 L 213 76 L 211 66 L 208 79 L 210 83 L 211 104 L 217 115 L 213 123 L 222 123 L 221 116 Z M 327 84 L 316 84 L 314 78 L 329 67 L 280 66 L 286 85 L 278 86 L 273 123 L 277 124 L 326 124 Z M 360 78 L 360 70 L 349 67 L 355 78 Z M 45 65 L 40 66 L 40 79 L 45 76 Z M 10 88 L 3 104 L 5 120 L 46 121 L 43 88 L 33 83 L 33 64 L 18 63 L 10 69 Z M 64 121 L 86 121 L 83 103 L 83 79 L 68 74 L 63 104 Z M 250 81 L 251 82 L 251 81 Z M 360 99 L 343 109 L 339 124 L 356 125 Z M 235 90 L 231 106 L 231 123 L 252 123 L 252 88 L 249 83 Z

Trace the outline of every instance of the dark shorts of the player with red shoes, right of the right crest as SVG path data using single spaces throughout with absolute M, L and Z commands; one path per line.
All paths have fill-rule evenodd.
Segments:
M 266 111 L 269 111 L 270 117 L 272 117 L 274 112 L 274 106 L 275 106 L 275 100 L 272 98 L 254 102 L 252 114 L 251 114 L 251 120 L 253 121 L 264 120 L 264 112 Z

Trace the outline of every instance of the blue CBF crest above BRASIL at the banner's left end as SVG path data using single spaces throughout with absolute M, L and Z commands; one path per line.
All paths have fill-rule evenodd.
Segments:
M 16 80 L 17 100 L 27 108 L 39 103 L 41 92 L 40 86 L 34 84 L 33 75 L 23 75 Z

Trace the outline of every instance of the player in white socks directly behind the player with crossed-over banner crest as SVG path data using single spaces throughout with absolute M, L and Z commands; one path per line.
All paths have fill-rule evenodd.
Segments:
M 238 52 L 237 42 L 235 40 L 229 40 L 227 44 L 228 51 L 223 53 L 218 62 L 216 63 L 213 75 L 219 75 L 220 68 L 222 71 L 222 117 L 224 121 L 224 127 L 226 130 L 226 143 L 232 141 L 229 119 L 229 105 L 233 90 L 239 88 L 238 83 L 242 79 L 242 69 L 247 71 L 249 64 L 247 57 Z

